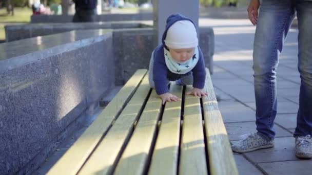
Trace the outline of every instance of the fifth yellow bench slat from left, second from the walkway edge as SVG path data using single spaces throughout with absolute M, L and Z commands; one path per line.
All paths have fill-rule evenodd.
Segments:
M 200 98 L 193 95 L 185 95 L 181 139 L 179 174 L 208 174 Z

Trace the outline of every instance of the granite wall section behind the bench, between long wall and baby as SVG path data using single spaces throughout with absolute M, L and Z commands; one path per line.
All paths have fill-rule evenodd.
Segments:
M 148 69 L 154 49 L 152 35 L 151 28 L 113 31 L 117 85 L 127 82 L 137 69 Z

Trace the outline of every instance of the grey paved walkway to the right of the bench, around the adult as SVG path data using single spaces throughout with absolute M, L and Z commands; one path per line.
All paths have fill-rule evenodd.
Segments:
M 219 107 L 231 142 L 256 129 L 253 91 L 252 45 L 255 27 L 247 19 L 200 19 L 215 35 L 212 82 L 220 95 Z M 312 160 L 295 157 L 293 132 L 296 127 L 300 77 L 297 71 L 297 29 L 287 37 L 279 67 L 278 115 L 275 147 L 235 154 L 240 174 L 311 174 Z

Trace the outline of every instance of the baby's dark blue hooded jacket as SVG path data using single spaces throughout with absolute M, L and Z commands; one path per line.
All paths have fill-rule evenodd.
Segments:
M 175 22 L 179 20 L 189 20 L 191 21 L 191 23 L 193 23 L 191 19 L 181 14 L 170 15 L 167 19 L 166 29 L 162 37 L 162 44 L 159 45 L 153 51 L 153 59 L 154 59 L 153 81 L 155 84 L 156 93 L 158 95 L 169 92 L 168 85 L 167 85 L 168 80 L 175 81 L 183 76 L 181 74 L 175 74 L 169 71 L 169 69 L 167 68 L 167 65 L 165 62 L 165 56 L 164 56 L 164 48 L 169 50 L 167 46 L 165 45 L 165 38 L 167 35 L 167 31 Z M 197 64 L 195 65 L 195 67 L 191 70 L 191 72 L 193 73 L 193 88 L 203 89 L 205 85 L 205 79 L 206 79 L 205 62 L 203 58 L 203 53 L 199 46 L 198 46 L 198 51 L 199 51 L 199 58 L 198 58 L 199 60 Z M 186 74 L 189 74 L 189 72 Z

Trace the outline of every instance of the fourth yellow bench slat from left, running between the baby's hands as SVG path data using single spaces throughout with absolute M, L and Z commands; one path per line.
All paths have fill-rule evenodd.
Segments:
M 170 93 L 180 100 L 166 102 L 148 174 L 177 174 L 182 86 L 171 83 Z

